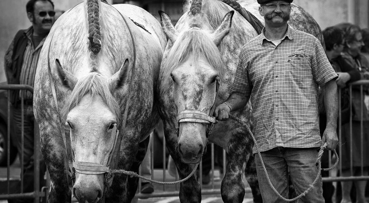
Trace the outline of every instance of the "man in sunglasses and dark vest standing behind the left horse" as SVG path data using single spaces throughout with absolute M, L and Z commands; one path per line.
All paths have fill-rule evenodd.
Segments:
M 19 30 L 5 54 L 5 72 L 8 84 L 23 84 L 34 86 L 38 57 L 42 45 L 54 24 L 54 3 L 51 0 L 29 0 L 26 4 L 27 17 L 32 26 L 26 30 Z M 28 91 L 12 90 L 10 95 L 12 125 L 14 137 L 12 141 L 21 153 L 21 126 L 24 103 L 24 185 L 22 192 L 33 191 L 34 170 L 34 115 L 33 94 Z M 41 154 L 41 153 L 40 153 Z M 42 157 L 41 157 L 42 159 Z M 44 179 L 46 166 L 41 161 L 40 179 Z M 42 184 L 41 184 L 42 186 Z M 20 190 L 20 187 L 17 188 Z M 21 192 L 21 191 L 12 191 Z M 10 202 L 10 200 L 9 200 Z M 18 200 L 17 202 L 33 202 L 32 199 Z

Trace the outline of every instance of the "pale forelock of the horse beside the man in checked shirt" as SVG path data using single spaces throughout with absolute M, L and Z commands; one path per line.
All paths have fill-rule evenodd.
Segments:
M 170 73 L 173 69 L 182 65 L 189 58 L 193 59 L 194 67 L 199 68 L 200 56 L 208 61 L 221 78 L 224 72 L 224 62 L 217 46 L 206 31 L 199 28 L 190 28 L 179 35 L 166 60 L 163 61 L 163 68 L 165 69 L 163 79 L 171 80 Z

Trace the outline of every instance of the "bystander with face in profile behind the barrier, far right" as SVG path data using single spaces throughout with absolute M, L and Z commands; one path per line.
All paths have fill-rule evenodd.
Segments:
M 344 31 L 345 47 L 342 52 L 344 60 L 358 69 L 361 79 L 369 79 L 369 62 L 361 54 L 361 48 L 364 46 L 360 27 L 348 23 L 338 24 L 338 27 Z M 340 152 L 340 161 L 342 163 L 341 176 L 367 176 L 369 168 L 369 113 L 368 106 L 364 100 L 369 98 L 368 87 L 363 87 L 364 95 L 361 97 L 360 87 L 352 88 L 352 129 L 350 123 L 342 125 L 342 151 Z M 361 99 L 364 98 L 364 99 Z M 363 105 L 362 105 L 363 103 Z M 361 118 L 362 117 L 362 118 Z M 361 120 L 363 125 L 361 126 Z M 363 129 L 363 130 L 361 130 Z M 363 134 L 363 136 L 361 136 Z M 352 137 L 351 137 L 352 136 Z M 351 141 L 352 140 L 352 141 Z M 352 154 L 350 150 L 352 149 Z M 363 151 L 363 154 L 361 154 Z M 363 173 L 361 170 L 363 161 Z M 352 173 L 351 173 L 352 163 Z M 365 202 L 366 181 L 354 181 L 356 187 L 356 202 Z M 341 182 L 342 200 L 341 203 L 351 202 L 350 192 L 352 182 Z

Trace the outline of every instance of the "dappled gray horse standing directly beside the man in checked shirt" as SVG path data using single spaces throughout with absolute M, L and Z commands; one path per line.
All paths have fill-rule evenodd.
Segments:
M 238 5 L 232 0 L 227 2 Z M 237 2 L 264 22 L 255 0 Z M 187 1 L 183 10 L 175 27 L 168 14 L 160 13 L 169 41 L 159 75 L 159 110 L 170 155 L 180 178 L 184 178 L 200 161 L 208 142 L 223 147 L 228 152 L 221 184 L 223 201 L 242 202 L 245 172 L 254 202 L 261 202 L 251 154 L 253 141 L 246 129 L 228 120 L 215 124 L 212 133 L 209 130 L 214 121 L 211 117 L 214 105 L 219 105 L 230 94 L 239 52 L 257 32 L 244 17 L 220 0 L 203 0 L 202 4 L 201 0 Z M 315 35 L 323 44 L 318 24 L 296 4 L 292 4 L 289 24 Z M 252 127 L 250 104 L 232 114 Z M 179 196 L 181 202 L 201 201 L 200 185 L 194 177 L 181 183 Z

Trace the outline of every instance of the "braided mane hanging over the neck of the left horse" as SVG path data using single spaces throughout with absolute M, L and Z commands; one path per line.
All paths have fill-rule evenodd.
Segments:
M 92 70 L 96 72 L 96 56 L 101 49 L 101 32 L 99 22 L 99 1 L 87 0 L 87 19 L 89 21 L 89 50 L 91 51 Z

